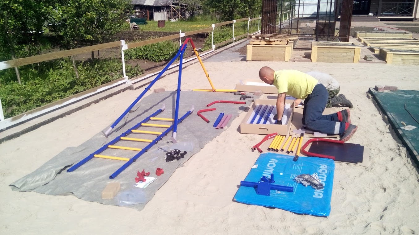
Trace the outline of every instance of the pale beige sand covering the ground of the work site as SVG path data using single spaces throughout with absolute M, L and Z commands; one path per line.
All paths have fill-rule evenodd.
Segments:
M 0 144 L 0 234 L 418 234 L 418 169 L 367 91 L 375 84 L 419 89 L 418 66 L 306 62 L 220 61 L 205 66 L 215 86 L 232 89 L 256 79 L 261 66 L 328 72 L 352 101 L 358 131 L 349 143 L 370 148 L 370 167 L 336 163 L 329 217 L 297 215 L 233 202 L 258 153 L 261 135 L 232 126 L 175 171 L 155 197 L 134 209 L 74 196 L 13 192 L 13 181 L 113 122 L 142 91 L 129 90 Z M 176 89 L 177 74 L 155 84 Z M 183 70 L 182 89 L 208 88 L 199 64 Z M 185 98 L 185 97 L 183 97 Z M 233 146 L 233 147 L 232 147 Z

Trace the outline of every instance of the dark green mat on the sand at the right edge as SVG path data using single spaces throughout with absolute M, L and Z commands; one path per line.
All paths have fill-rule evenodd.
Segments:
M 413 156 L 416 164 L 419 164 L 419 91 L 398 90 L 394 92 L 377 92 L 370 88 L 370 94 L 377 101 L 378 106 L 388 117 L 407 151 Z M 410 112 L 410 114 L 409 114 Z M 413 117 L 412 117 L 413 116 Z M 416 120 L 417 121 L 416 121 Z M 403 124 L 416 126 L 414 130 L 401 129 Z

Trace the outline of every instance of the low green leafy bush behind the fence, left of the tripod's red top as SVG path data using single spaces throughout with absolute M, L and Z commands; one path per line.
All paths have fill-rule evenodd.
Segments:
M 167 61 L 176 56 L 179 44 L 173 41 L 163 41 L 124 51 L 126 59 L 143 59 L 153 62 Z

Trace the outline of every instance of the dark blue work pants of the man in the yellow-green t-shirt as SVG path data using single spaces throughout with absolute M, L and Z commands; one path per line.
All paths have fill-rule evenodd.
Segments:
M 317 84 L 304 100 L 303 124 L 316 132 L 341 135 L 345 131 L 345 123 L 339 122 L 338 115 L 322 115 L 328 98 L 326 87 Z

